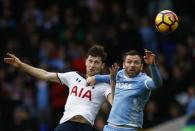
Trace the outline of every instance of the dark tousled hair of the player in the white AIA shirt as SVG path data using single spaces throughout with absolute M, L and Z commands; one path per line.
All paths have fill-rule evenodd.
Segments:
M 101 45 L 93 45 L 91 48 L 89 48 L 86 57 L 89 55 L 93 57 L 101 57 L 103 63 L 105 63 L 107 59 L 107 53 L 104 51 L 104 47 Z

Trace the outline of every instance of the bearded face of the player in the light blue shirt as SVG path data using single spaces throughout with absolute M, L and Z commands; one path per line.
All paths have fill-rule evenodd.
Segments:
M 134 77 L 143 68 L 142 60 L 138 55 L 128 55 L 123 62 L 123 68 L 129 77 Z

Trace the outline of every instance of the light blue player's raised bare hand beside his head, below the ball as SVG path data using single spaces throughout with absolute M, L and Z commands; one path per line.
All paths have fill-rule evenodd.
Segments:
M 148 65 L 155 64 L 155 54 L 147 49 L 145 49 L 145 54 L 146 54 L 144 56 L 145 63 Z

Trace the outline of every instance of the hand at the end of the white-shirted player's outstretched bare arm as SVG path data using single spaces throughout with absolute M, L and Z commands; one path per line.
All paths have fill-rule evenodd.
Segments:
M 7 57 L 4 58 L 5 63 L 10 64 L 17 68 L 21 65 L 22 62 L 14 54 L 7 53 L 6 55 Z

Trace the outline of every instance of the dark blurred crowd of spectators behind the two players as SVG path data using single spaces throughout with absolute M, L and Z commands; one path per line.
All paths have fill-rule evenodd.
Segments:
M 144 128 L 185 114 L 193 116 L 194 8 L 193 0 L 1 0 L 0 130 L 52 130 L 68 95 L 64 85 L 5 65 L 6 52 L 48 71 L 85 73 L 86 50 L 96 43 L 108 52 L 107 66 L 121 63 L 121 54 L 131 49 L 147 48 L 157 55 L 164 85 L 151 94 Z M 173 33 L 155 29 L 154 18 L 164 9 L 173 10 L 180 19 Z M 97 131 L 102 130 L 109 110 L 105 102 L 95 122 Z

